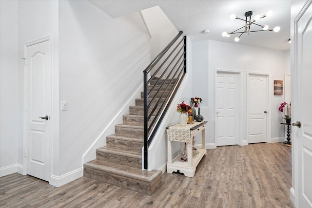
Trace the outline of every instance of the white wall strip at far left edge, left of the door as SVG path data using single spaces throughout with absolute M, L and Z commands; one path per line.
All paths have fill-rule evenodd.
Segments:
M 18 163 L 18 1 L 0 1 L 0 176 Z

